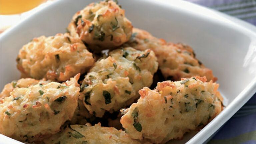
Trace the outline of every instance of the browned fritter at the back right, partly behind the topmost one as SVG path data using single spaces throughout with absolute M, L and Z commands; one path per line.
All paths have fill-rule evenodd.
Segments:
M 167 43 L 164 39 L 153 37 L 147 31 L 133 28 L 133 34 L 124 46 L 131 46 L 137 50 L 153 50 L 159 68 L 167 80 L 179 81 L 181 78 L 192 76 L 206 76 L 208 81 L 213 82 L 217 80 L 212 70 L 196 59 L 193 49 L 188 45 Z

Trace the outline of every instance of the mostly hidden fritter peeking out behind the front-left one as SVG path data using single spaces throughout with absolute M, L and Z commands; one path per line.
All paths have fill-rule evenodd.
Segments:
M 42 80 L 36 80 L 36 79 L 32 79 L 32 78 L 22 78 L 19 79 L 18 81 L 12 81 L 11 83 L 8 83 L 4 86 L 4 89 L 2 90 L 1 94 L 0 94 L 0 98 L 5 98 L 5 97 L 9 97 L 10 93 L 16 88 L 22 88 L 22 87 L 29 87 L 32 85 L 36 85 L 36 84 L 47 84 L 50 81 L 46 81 L 45 79 Z

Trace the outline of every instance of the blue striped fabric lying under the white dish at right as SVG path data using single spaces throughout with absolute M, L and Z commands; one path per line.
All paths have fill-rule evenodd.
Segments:
M 187 0 L 256 25 L 256 0 Z M 256 144 L 256 94 L 219 130 L 209 144 Z

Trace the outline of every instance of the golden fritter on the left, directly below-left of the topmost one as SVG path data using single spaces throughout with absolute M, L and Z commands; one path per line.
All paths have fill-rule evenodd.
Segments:
M 16 61 L 22 77 L 59 82 L 84 73 L 94 63 L 82 41 L 67 33 L 34 38 L 22 47 Z

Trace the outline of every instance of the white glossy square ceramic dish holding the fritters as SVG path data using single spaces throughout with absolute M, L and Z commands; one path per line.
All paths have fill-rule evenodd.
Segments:
M 73 14 L 93 0 L 57 0 L 1 35 L 0 82 L 19 79 L 16 56 L 34 37 L 64 33 Z M 197 58 L 218 77 L 226 108 L 200 132 L 171 143 L 204 143 L 256 92 L 256 27 L 186 2 L 119 0 L 134 27 L 166 41 L 190 45 Z M 18 144 L 0 134 L 0 144 Z

